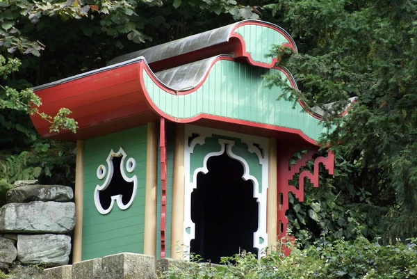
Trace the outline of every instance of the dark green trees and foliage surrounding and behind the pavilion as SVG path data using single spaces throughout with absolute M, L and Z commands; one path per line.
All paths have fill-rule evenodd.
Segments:
M 322 235 L 353 240 L 357 229 L 382 244 L 416 237 L 415 0 L 0 0 L 0 197 L 17 179 L 74 180 L 74 145 L 39 138 L 25 104 L 42 100 L 26 88 L 249 18 L 284 27 L 297 43 L 298 54 L 271 50 L 300 88 L 281 97 L 301 98 L 307 109 L 341 101 L 336 111 L 358 97 L 345 117 L 327 111 L 322 123 L 336 127 L 322 136 L 336 152 L 334 177 L 323 171 L 302 204 L 290 198 L 300 245 Z M 74 129 L 68 113 L 45 118 L 54 129 Z

